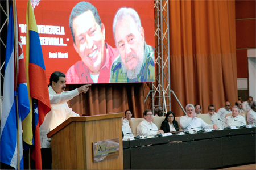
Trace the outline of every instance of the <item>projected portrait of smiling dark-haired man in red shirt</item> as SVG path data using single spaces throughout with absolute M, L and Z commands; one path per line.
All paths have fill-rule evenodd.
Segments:
M 73 46 L 81 61 L 69 68 L 67 83 L 109 83 L 110 67 L 118 51 L 105 43 L 105 26 L 97 9 L 79 2 L 69 17 Z

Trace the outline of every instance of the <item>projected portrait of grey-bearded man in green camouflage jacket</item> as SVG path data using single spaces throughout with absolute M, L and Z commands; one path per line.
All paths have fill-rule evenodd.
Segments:
M 147 45 L 139 15 L 132 8 L 120 8 L 113 22 L 119 56 L 110 73 L 110 82 L 154 82 L 154 49 Z

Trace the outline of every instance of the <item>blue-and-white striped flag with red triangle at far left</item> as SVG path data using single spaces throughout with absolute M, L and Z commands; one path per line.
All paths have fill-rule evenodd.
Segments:
M 23 169 L 22 121 L 28 115 L 30 105 L 28 102 L 24 57 L 17 24 L 16 8 L 14 6 L 13 10 L 12 3 L 6 41 L 0 162 L 15 169 Z M 17 57 L 15 56 L 15 49 Z

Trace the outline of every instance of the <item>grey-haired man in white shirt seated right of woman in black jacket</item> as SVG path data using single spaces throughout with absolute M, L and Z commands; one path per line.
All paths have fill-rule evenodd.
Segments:
M 186 116 L 180 117 L 180 127 L 184 130 L 188 130 L 190 133 L 193 133 L 193 130 L 201 130 L 203 129 L 218 129 L 218 126 L 208 125 L 203 121 L 203 119 L 195 117 L 195 108 L 192 104 L 188 104 L 186 106 Z

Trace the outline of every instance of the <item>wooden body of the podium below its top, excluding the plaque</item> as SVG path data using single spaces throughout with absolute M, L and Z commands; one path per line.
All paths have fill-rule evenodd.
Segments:
M 52 135 L 53 169 L 123 169 L 121 118 L 71 122 Z M 93 162 L 93 142 L 119 138 L 119 156 Z

